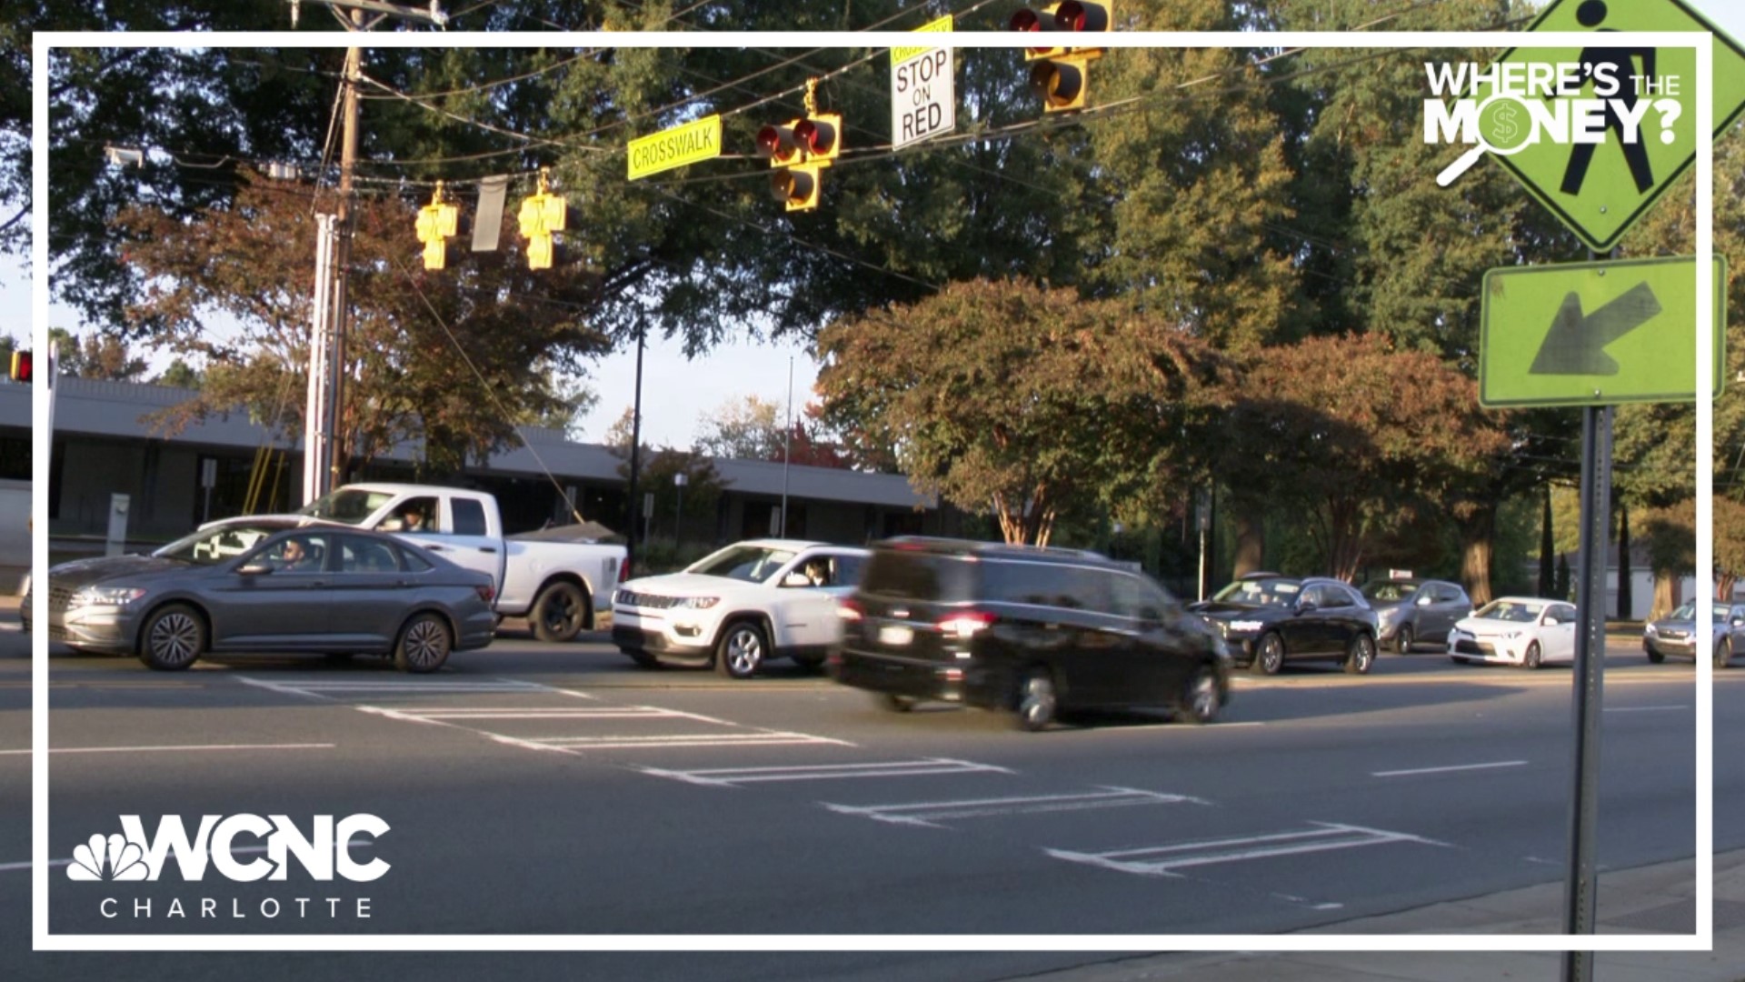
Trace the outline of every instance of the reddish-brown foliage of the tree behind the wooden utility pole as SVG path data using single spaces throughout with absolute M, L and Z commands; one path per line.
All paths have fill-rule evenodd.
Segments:
M 506 446 L 518 421 L 567 418 L 574 393 L 557 388 L 553 372 L 579 370 L 607 341 L 562 302 L 590 292 L 585 278 L 536 288 L 504 253 L 466 271 L 414 271 L 412 220 L 412 204 L 396 197 L 358 201 L 337 460 L 368 461 L 422 440 L 426 468 L 457 472 Z M 298 433 L 316 234 L 309 189 L 251 180 L 230 206 L 190 220 L 140 206 L 117 224 L 133 243 L 127 262 L 150 281 L 129 318 L 159 325 L 159 346 L 206 365 L 199 395 L 162 423 L 174 430 L 246 405 L 267 426 Z M 227 322 L 229 332 L 215 327 Z

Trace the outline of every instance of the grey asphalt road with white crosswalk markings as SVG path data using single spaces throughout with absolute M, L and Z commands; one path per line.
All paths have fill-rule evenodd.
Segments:
M 1598 861 L 1689 856 L 1693 666 L 1649 666 L 1633 647 L 1607 660 Z M 30 664 L 23 638 L 0 634 L 9 928 L 26 924 L 30 903 Z M 597 641 L 517 633 L 435 676 L 372 659 L 225 659 L 161 674 L 63 655 L 51 671 L 56 860 L 119 832 L 120 814 L 145 816 L 150 830 L 159 814 L 190 825 L 286 814 L 307 826 L 314 814 L 368 813 L 389 830 L 349 854 L 391 865 L 372 882 L 314 882 L 293 868 L 286 881 L 208 872 L 126 884 L 77 882 L 59 865 L 54 933 L 1244 935 L 1553 881 L 1564 868 L 1567 667 L 1384 655 L 1365 678 L 1242 674 L 1211 727 L 1134 713 L 1045 734 L 951 708 L 885 713 L 785 666 L 731 683 L 642 671 Z M 1745 750 L 1729 697 L 1742 685 L 1742 669 L 1719 676 L 1715 760 Z M 1745 774 L 1719 769 L 1717 814 L 1742 807 Z M 1745 832 L 1719 823 L 1715 840 L 1740 847 Z M 26 956 L 26 945 L 9 938 L 0 973 L 412 979 L 435 958 Z M 1099 959 L 462 956 L 441 973 L 489 977 L 506 958 L 529 977 L 913 980 Z

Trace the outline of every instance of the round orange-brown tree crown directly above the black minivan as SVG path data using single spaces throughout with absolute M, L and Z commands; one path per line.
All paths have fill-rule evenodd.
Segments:
M 893 446 L 911 484 L 993 510 L 1007 542 L 1047 545 L 1183 453 L 1204 425 L 1209 349 L 1131 308 L 1017 281 L 955 283 L 818 334 L 825 416 Z

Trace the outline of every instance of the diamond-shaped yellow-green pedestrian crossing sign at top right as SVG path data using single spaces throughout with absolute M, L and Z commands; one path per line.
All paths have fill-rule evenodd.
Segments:
M 1497 66 L 1577 65 L 1584 77 L 1579 98 L 1590 100 L 1607 91 L 1607 80 L 1619 86 L 1588 121 L 1602 142 L 1541 138 L 1502 145 L 1492 156 L 1588 248 L 1609 252 L 1696 161 L 1696 52 L 1607 44 L 1604 33 L 1714 31 L 1715 136 L 1745 110 L 1745 49 L 1682 0 L 1555 0 L 1527 30 L 1595 31 L 1595 42 L 1583 49 L 1515 47 Z M 1497 100 L 1492 114 L 1504 119 L 1485 126 L 1508 129 L 1511 108 L 1520 103 Z M 1626 129 L 1637 138 L 1625 140 Z

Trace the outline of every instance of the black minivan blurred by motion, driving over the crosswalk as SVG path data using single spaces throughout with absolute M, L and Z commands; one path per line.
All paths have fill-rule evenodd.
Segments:
M 897 711 L 937 699 L 1040 730 L 1063 711 L 1129 706 L 1204 723 L 1230 699 L 1223 640 L 1094 552 L 892 538 L 838 613 L 831 676 Z

